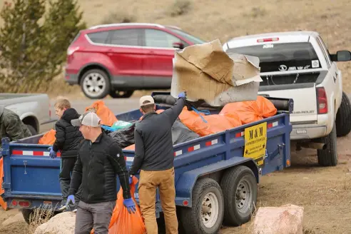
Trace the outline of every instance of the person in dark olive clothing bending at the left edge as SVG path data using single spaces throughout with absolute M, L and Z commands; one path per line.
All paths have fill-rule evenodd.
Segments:
M 1 138 L 8 137 L 10 141 L 18 141 L 29 136 L 31 136 L 31 131 L 19 116 L 14 111 L 0 105 L 0 148 Z

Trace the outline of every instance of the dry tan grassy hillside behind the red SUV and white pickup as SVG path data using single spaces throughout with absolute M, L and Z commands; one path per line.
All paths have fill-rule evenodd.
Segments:
M 202 39 L 220 39 L 222 42 L 245 34 L 301 29 L 318 31 L 330 53 L 351 50 L 351 3 L 348 0 L 266 0 L 261 1 L 261 4 L 255 0 L 78 2 L 88 26 L 101 24 L 113 14 L 116 23 L 125 19 L 175 25 Z M 2 5 L 4 0 L 0 3 Z M 180 9 L 185 13 L 172 16 L 178 9 L 175 6 L 182 5 L 185 7 Z M 351 63 L 338 63 L 338 66 L 343 71 L 344 90 L 351 93 Z

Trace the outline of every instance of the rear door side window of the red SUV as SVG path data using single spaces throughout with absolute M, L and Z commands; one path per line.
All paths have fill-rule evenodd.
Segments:
M 108 44 L 118 46 L 141 46 L 141 29 L 118 29 L 111 31 Z

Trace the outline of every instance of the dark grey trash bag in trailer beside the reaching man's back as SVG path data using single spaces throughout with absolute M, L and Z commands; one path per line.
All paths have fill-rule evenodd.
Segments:
M 187 126 L 185 126 L 179 118 L 173 123 L 172 126 L 172 141 L 173 145 L 178 143 L 183 143 L 185 141 L 190 141 L 200 136 L 191 131 Z

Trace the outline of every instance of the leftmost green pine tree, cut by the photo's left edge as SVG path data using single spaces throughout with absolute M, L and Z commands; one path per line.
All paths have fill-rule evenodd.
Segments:
M 45 0 L 6 2 L 0 12 L 4 26 L 0 31 L 1 91 L 28 91 L 43 73 L 39 19 L 45 12 Z

